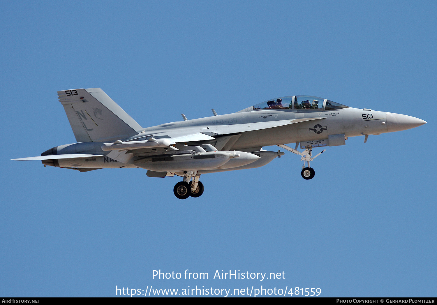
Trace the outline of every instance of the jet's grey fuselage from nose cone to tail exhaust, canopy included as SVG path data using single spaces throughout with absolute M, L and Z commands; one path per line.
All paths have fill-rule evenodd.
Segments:
M 312 106 L 309 100 L 313 100 Z M 323 101 L 323 104 L 316 104 L 316 102 L 319 102 L 318 100 Z M 333 107 L 338 109 L 332 109 Z M 272 123 L 274 125 L 277 121 L 285 123 L 271 128 L 259 127 L 260 123 Z M 138 135 L 120 140 L 130 142 L 143 141 L 151 137 L 155 139 L 171 139 L 179 135 L 204 134 L 210 136 L 211 140 L 202 140 L 200 142 L 190 142 L 188 140 L 184 144 L 211 144 L 217 147 L 217 150 L 255 152 L 259 151 L 263 146 L 307 141 L 324 142 L 320 146 L 344 145 L 344 139 L 348 137 L 379 135 L 385 132 L 414 128 L 425 123 L 425 121 L 419 118 L 403 114 L 374 111 L 366 108 L 352 108 L 317 97 L 293 96 L 266 101 L 236 113 L 176 121 L 143 128 L 138 131 Z M 336 143 L 333 141 L 334 138 Z M 338 142 L 338 139 L 343 142 Z M 160 149 L 156 150 L 153 148 L 136 150 L 136 154 L 123 163 L 120 162 L 120 159 L 117 161 L 107 156 L 110 152 L 102 150 L 103 142 L 81 142 L 53 148 L 56 150 L 53 154 L 89 153 L 103 155 L 89 159 L 59 160 L 59 165 L 56 166 L 70 168 L 75 166 L 90 168 L 135 168 L 138 167 L 135 165 L 135 161 L 145 156 L 171 153 L 167 150 L 160 151 Z M 226 143 L 226 145 L 224 146 L 223 143 Z M 179 149 L 181 148 L 179 147 Z M 51 153 L 45 152 L 44 154 Z M 271 157 L 274 158 L 273 155 Z M 43 163 L 48 164 L 49 162 L 52 161 L 44 161 Z M 261 163 L 261 161 L 259 162 Z

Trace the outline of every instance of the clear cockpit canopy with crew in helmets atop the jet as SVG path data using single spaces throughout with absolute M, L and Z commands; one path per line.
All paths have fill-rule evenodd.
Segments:
M 309 95 L 294 95 L 291 97 L 279 97 L 276 99 L 268 100 L 260 104 L 256 104 L 253 110 L 260 109 L 324 109 L 324 110 L 336 110 L 341 108 L 347 108 L 345 106 L 333 101 L 329 101 L 322 97 L 313 97 Z

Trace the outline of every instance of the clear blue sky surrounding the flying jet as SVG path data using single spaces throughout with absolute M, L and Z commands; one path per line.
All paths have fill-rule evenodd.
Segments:
M 436 13 L 434 1 L 2 1 L 0 295 L 264 283 L 436 296 Z M 184 201 L 179 178 L 146 170 L 10 161 L 75 142 L 56 91 L 92 87 L 143 127 L 291 95 L 427 124 L 328 148 L 312 180 L 288 152 L 205 174 Z M 210 279 L 152 279 L 159 269 Z

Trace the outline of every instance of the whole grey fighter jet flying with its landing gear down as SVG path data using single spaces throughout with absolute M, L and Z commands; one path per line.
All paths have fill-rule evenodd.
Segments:
M 86 172 L 101 168 L 143 168 L 148 177 L 183 177 L 173 192 L 179 199 L 199 197 L 203 173 L 266 165 L 284 152 L 301 156 L 302 178 L 314 177 L 312 149 L 345 145 L 348 137 L 395 132 L 426 123 L 391 112 L 348 107 L 321 97 L 295 95 L 265 101 L 232 114 L 142 128 L 100 88 L 58 91 L 77 143 L 53 147 L 37 157 Z M 295 148 L 285 144 L 296 143 Z M 299 145 L 300 144 L 300 145 Z M 298 150 L 304 149 L 302 152 Z M 305 166 L 306 163 L 306 166 Z

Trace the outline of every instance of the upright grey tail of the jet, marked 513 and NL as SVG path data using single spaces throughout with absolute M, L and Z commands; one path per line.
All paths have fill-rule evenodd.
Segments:
M 138 135 L 142 127 L 100 88 L 58 91 L 77 142 L 101 142 Z

